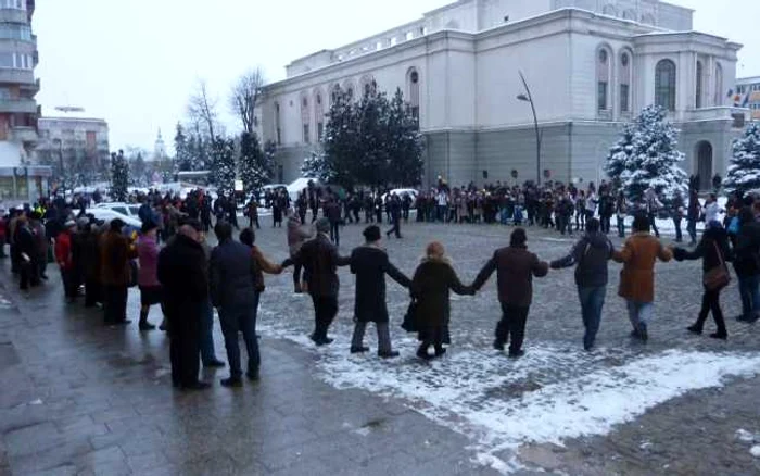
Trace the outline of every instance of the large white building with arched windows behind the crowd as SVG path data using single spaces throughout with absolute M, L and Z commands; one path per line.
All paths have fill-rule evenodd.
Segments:
M 621 124 L 645 105 L 682 129 L 684 167 L 723 174 L 749 111 L 727 97 L 740 46 L 692 30 L 693 11 L 658 0 L 459 0 L 422 18 L 293 61 L 264 89 L 259 134 L 280 145 L 280 181 L 319 147 L 329 91 L 376 82 L 418 108 L 425 181 L 604 178 Z M 541 165 L 524 74 L 542 131 Z

